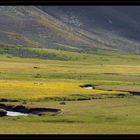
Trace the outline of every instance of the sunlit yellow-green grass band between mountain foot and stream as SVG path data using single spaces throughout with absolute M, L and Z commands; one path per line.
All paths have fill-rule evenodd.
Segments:
M 115 91 L 117 88 L 111 88 L 112 91 L 88 90 L 79 85 L 86 83 L 98 86 L 140 85 L 139 75 L 140 66 L 129 63 L 95 65 L 88 61 L 83 63 L 1 56 L 0 97 L 39 99 L 71 95 L 118 94 L 119 92 Z

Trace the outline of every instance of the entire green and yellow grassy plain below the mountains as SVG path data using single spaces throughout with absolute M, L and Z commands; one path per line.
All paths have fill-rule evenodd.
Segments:
M 23 58 L 11 51 L 1 53 L 0 98 L 19 100 L 8 104 L 54 107 L 62 112 L 38 117 L 0 117 L 1 134 L 140 133 L 140 98 L 125 92 L 140 91 L 139 55 L 102 50 L 96 54 L 28 50 L 46 56 L 55 53 L 57 57 Z M 80 87 L 87 83 L 96 89 Z M 79 98 L 94 99 L 77 101 Z M 61 105 L 64 99 L 74 101 L 65 100 L 66 104 Z

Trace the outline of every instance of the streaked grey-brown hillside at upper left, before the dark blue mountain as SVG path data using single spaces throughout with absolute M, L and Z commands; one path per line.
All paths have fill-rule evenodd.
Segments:
M 52 43 L 84 44 L 61 22 L 36 7 L 0 7 L 1 43 L 50 47 Z

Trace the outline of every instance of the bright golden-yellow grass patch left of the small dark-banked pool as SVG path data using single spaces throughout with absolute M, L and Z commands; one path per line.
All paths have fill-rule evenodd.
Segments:
M 72 94 L 115 94 L 116 91 L 92 90 L 79 87 L 71 82 L 34 82 L 34 81 L 0 81 L 0 98 L 37 99 L 45 97 L 62 97 Z

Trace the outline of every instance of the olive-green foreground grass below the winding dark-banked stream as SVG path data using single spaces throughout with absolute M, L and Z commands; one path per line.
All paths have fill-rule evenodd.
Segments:
M 1 117 L 1 134 L 139 134 L 140 98 L 33 102 L 63 109 L 58 115 Z M 30 105 L 30 103 L 28 103 Z

